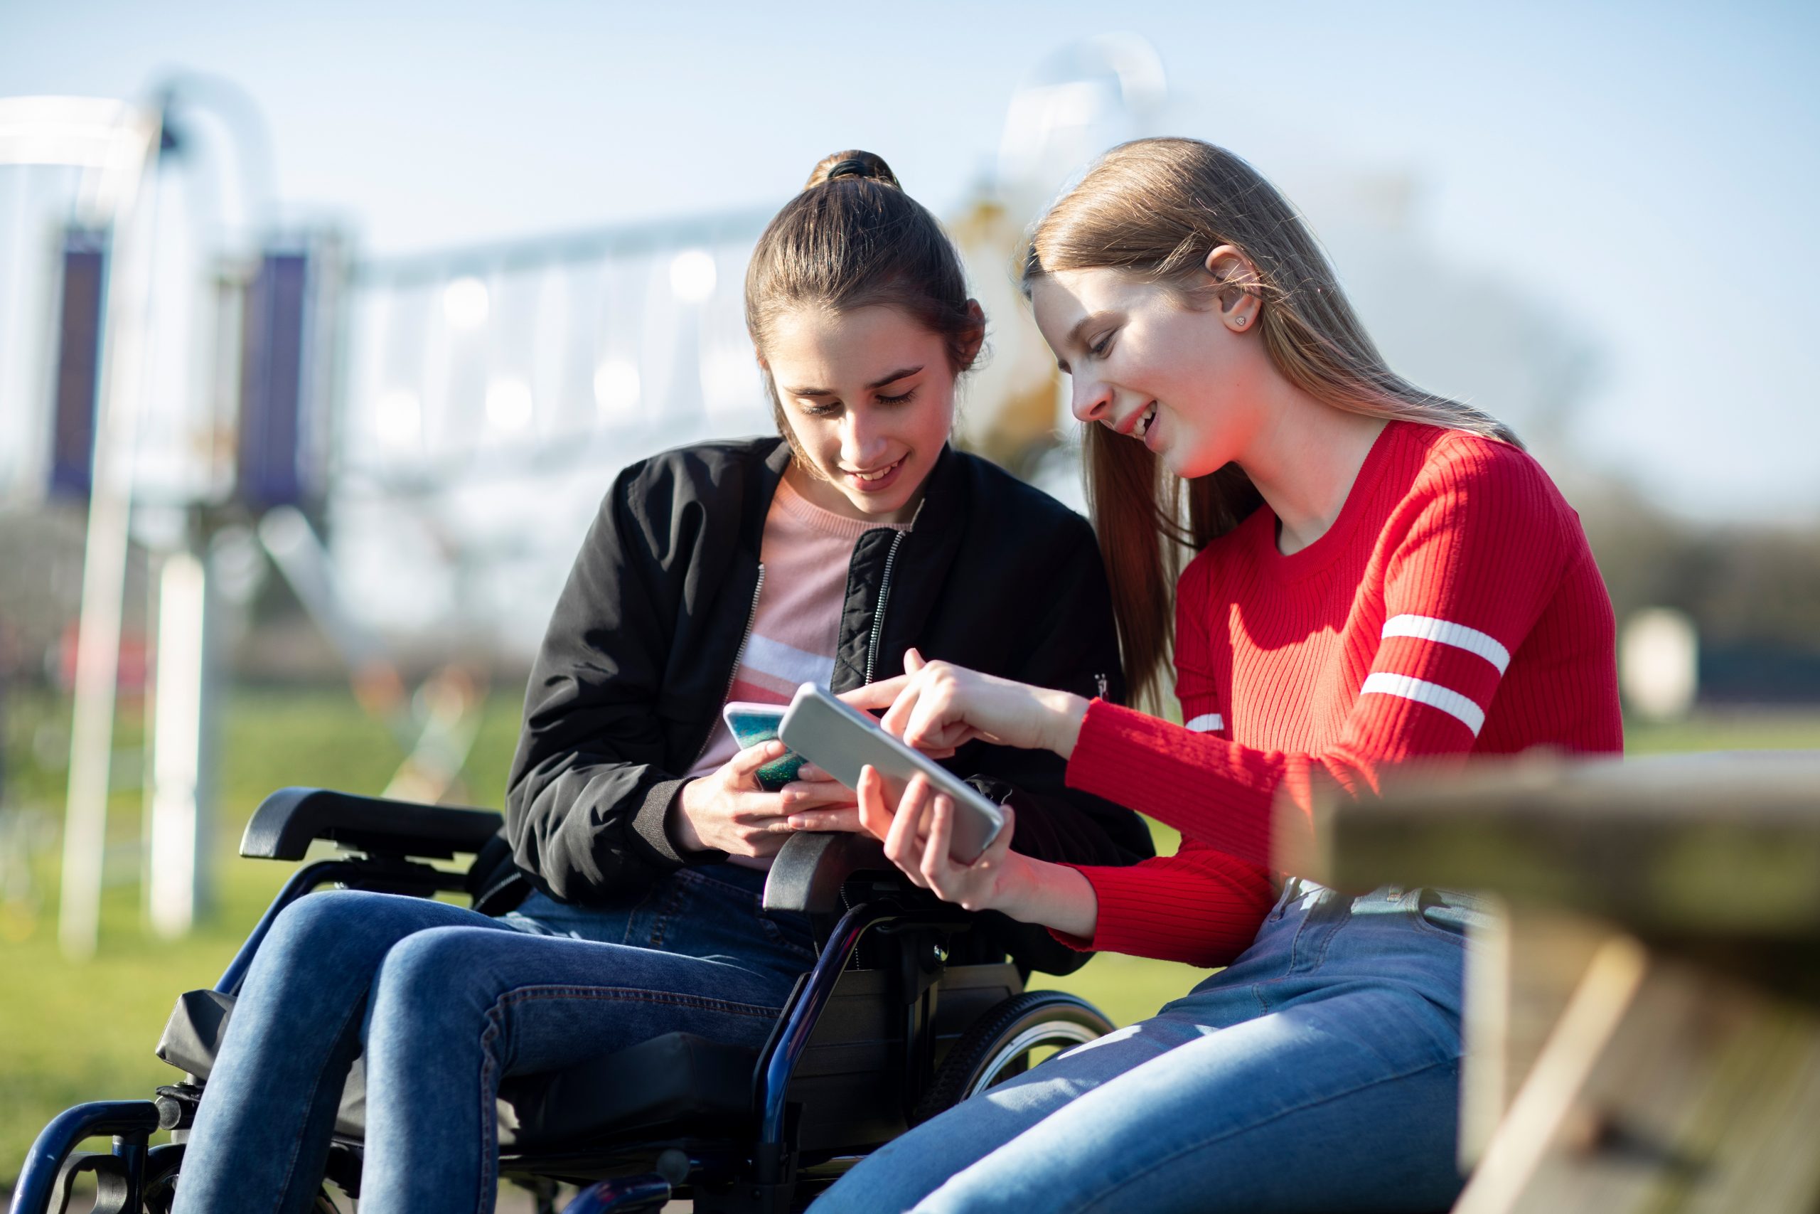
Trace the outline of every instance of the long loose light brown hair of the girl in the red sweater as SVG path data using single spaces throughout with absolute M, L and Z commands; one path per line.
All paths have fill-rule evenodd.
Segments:
M 1037 222 L 1023 289 L 1063 269 L 1121 269 L 1210 306 L 1207 255 L 1230 244 L 1258 271 L 1270 364 L 1323 404 L 1516 442 L 1494 417 L 1421 391 L 1385 366 L 1314 235 L 1276 187 L 1223 147 L 1141 138 L 1108 151 Z M 1112 581 L 1132 699 L 1156 703 L 1174 633 L 1183 548 L 1199 551 L 1259 504 L 1238 464 L 1183 482 L 1143 444 L 1087 426 L 1087 499 Z

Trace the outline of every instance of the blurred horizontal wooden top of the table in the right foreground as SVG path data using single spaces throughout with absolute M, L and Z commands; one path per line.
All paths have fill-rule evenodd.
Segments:
M 1820 752 L 1525 757 L 1320 797 L 1334 888 L 1491 890 L 1649 936 L 1820 936 Z

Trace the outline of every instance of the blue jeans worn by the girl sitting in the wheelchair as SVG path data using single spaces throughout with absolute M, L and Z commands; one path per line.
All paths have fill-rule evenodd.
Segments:
M 806 919 L 759 914 L 763 886 L 735 865 L 684 868 L 630 908 L 533 894 L 500 919 L 357 890 L 298 899 L 248 970 L 177 1212 L 308 1210 L 364 1048 L 362 1214 L 486 1214 L 500 1076 L 666 1032 L 763 1045 L 815 959 Z

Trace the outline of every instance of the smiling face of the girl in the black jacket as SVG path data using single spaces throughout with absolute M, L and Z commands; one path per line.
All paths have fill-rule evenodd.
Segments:
M 875 522 L 915 511 L 954 426 L 948 346 L 895 308 L 804 308 L 772 326 L 764 366 L 817 506 Z

